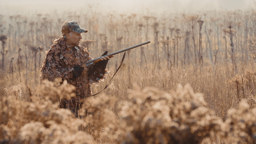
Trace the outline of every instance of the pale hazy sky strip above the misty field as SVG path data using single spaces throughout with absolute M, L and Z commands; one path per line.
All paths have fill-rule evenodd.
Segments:
M 207 10 L 236 10 L 255 8 L 253 0 L 0 0 L 0 13 L 47 13 L 49 10 L 88 9 L 109 12 L 197 12 Z

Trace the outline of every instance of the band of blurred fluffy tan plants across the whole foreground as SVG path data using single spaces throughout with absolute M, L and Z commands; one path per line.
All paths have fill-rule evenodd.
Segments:
M 73 86 L 59 82 L 45 81 L 36 90 L 22 83 L 6 89 L 0 103 L 2 143 L 255 142 L 253 97 L 237 98 L 236 108 L 231 106 L 223 121 L 218 109 L 209 108 L 205 95 L 194 93 L 189 84 L 168 92 L 134 84 L 127 95 L 109 92 L 87 98 L 80 118 L 75 118 L 56 101 L 74 96 L 67 95 Z M 114 85 L 111 89 L 117 91 Z M 29 95 L 23 94 L 26 91 Z

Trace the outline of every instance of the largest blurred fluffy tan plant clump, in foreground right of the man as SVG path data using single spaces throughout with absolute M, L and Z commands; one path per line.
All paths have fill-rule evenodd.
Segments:
M 178 85 L 172 93 L 138 89 L 130 91 L 130 98 L 119 115 L 116 143 L 197 144 L 221 130 L 221 119 L 190 85 Z

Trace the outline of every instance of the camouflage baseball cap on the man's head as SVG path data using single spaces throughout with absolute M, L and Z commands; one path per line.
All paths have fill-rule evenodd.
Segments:
M 61 33 L 62 36 L 65 36 L 66 33 L 75 32 L 75 33 L 87 33 L 88 30 L 82 29 L 79 25 L 78 21 L 71 21 L 68 20 L 62 25 Z

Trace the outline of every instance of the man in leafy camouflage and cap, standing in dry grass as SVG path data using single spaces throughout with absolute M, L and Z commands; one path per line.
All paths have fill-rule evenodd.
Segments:
M 69 84 L 75 85 L 76 97 L 69 101 L 62 99 L 59 106 L 69 108 L 78 116 L 83 99 L 91 96 L 91 84 L 105 79 L 106 65 L 113 56 L 102 57 L 102 61 L 95 65 L 86 68 L 80 67 L 92 59 L 87 49 L 80 46 L 81 33 L 87 33 L 88 30 L 82 29 L 77 21 L 66 21 L 62 25 L 61 32 L 62 37 L 55 39 L 45 54 L 40 80 L 53 81 L 55 78 L 61 77 L 62 80 L 67 80 Z M 102 56 L 107 53 L 106 51 Z

